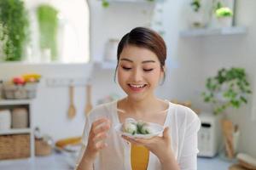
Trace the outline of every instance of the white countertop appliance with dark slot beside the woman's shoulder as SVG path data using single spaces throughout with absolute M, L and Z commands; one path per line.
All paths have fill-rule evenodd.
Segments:
M 199 117 L 201 128 L 198 133 L 198 156 L 216 156 L 221 141 L 220 117 L 210 113 L 201 113 Z

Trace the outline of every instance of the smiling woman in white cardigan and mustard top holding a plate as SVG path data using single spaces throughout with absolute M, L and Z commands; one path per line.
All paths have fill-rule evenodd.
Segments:
M 148 28 L 132 29 L 119 42 L 117 63 L 126 96 L 90 111 L 76 169 L 197 169 L 198 116 L 154 94 L 166 70 L 163 38 Z

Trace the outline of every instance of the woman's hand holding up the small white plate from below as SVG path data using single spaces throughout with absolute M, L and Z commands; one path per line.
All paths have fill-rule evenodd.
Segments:
M 131 142 L 132 144 L 143 145 L 155 156 L 157 156 L 161 162 L 165 162 L 166 160 L 170 160 L 172 155 L 172 146 L 171 146 L 171 136 L 169 134 L 169 127 L 166 127 L 163 136 L 153 137 L 151 139 L 131 139 L 127 136 L 122 136 L 127 141 Z

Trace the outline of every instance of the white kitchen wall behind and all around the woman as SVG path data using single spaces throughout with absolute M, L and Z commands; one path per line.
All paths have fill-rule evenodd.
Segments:
M 161 22 L 160 25 L 153 23 L 153 27 L 162 33 L 168 48 L 167 79 L 157 90 L 160 98 L 191 101 L 194 108 L 211 112 L 212 108 L 204 103 L 201 97 L 205 81 L 207 77 L 214 76 L 218 69 L 232 66 L 245 68 L 255 92 L 256 1 L 236 1 L 235 23 L 236 26 L 245 26 L 246 33 L 205 37 L 181 36 L 181 31 L 188 28 L 185 3 L 188 1 L 166 0 L 164 5 L 158 6 L 158 11 L 154 11 L 150 3 L 110 3 L 108 8 L 102 8 L 101 2 L 90 0 L 90 55 L 86 56 L 90 56 L 89 63 L 0 63 L 0 77 L 8 79 L 28 72 L 41 74 L 42 80 L 33 108 L 34 127 L 39 127 L 42 133 L 49 134 L 55 141 L 79 136 L 85 121 L 85 83 L 75 86 L 74 105 L 77 114 L 70 120 L 67 118 L 68 86 L 53 87 L 48 81 L 70 77 L 82 77 L 83 80 L 90 78 L 93 105 L 109 94 L 123 96 L 118 84 L 113 82 L 114 66 L 102 66 L 105 45 L 109 39 L 119 39 L 133 27 L 149 26 L 150 23 L 152 26 L 154 21 L 151 19 L 154 19 Z M 237 123 L 241 130 L 238 148 L 251 156 L 256 156 L 255 101 L 256 95 L 253 94 L 248 100 L 248 105 L 241 106 L 239 110 L 228 110 L 229 118 Z

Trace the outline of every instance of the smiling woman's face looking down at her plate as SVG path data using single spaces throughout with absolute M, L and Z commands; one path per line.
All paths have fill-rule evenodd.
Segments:
M 117 74 L 119 85 L 129 98 L 141 100 L 154 95 L 163 71 L 152 51 L 128 45 L 120 54 Z

